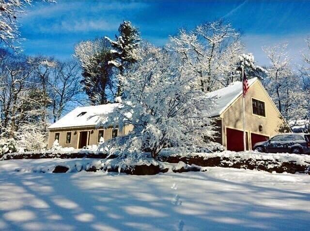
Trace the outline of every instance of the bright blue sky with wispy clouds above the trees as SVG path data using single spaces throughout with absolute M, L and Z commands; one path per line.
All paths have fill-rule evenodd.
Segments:
M 262 46 L 289 43 L 294 62 L 300 62 L 304 39 L 310 36 L 309 0 L 57 0 L 36 3 L 19 21 L 24 53 L 69 59 L 79 41 L 117 33 L 123 20 L 140 28 L 141 36 L 163 46 L 169 35 L 204 21 L 224 18 L 242 31 L 242 40 L 256 61 L 265 65 Z

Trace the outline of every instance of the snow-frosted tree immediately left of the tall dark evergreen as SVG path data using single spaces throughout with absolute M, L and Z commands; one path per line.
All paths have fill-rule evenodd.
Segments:
M 90 104 L 107 104 L 113 98 L 113 70 L 111 46 L 107 39 L 84 41 L 75 46 L 75 57 L 80 63 L 84 79 L 81 81 Z

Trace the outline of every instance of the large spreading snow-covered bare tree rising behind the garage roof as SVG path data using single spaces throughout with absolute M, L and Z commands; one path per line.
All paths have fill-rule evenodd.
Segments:
M 222 20 L 184 29 L 170 37 L 167 48 L 200 76 L 202 91 L 213 91 L 237 79 L 235 64 L 244 50 L 240 33 Z

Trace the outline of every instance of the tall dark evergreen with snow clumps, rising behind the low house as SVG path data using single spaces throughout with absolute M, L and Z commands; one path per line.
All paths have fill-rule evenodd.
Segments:
M 109 64 L 116 67 L 120 75 L 123 75 L 133 63 L 139 60 L 138 48 L 140 44 L 140 32 L 130 21 L 121 23 L 119 35 L 115 36 L 115 41 L 105 37 L 112 46 L 111 60 Z M 119 80 L 116 96 L 122 95 L 122 82 Z

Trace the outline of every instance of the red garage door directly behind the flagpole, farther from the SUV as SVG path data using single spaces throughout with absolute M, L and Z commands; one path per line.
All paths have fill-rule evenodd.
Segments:
M 246 136 L 246 145 L 248 150 L 248 133 L 246 133 Z M 243 131 L 226 128 L 226 147 L 229 151 L 243 151 Z

